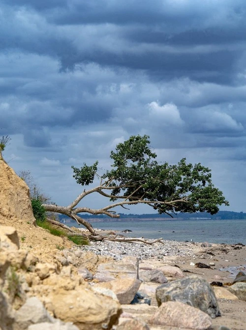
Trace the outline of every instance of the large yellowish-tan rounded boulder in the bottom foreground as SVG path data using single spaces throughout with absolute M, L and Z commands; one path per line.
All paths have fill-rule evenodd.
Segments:
M 50 294 L 49 300 L 47 308 L 55 317 L 73 322 L 80 330 L 110 330 L 122 312 L 118 301 L 95 294 L 89 288 L 57 290 Z

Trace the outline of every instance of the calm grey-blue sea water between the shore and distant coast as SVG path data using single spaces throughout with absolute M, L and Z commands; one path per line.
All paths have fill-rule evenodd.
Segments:
M 130 229 L 132 232 L 126 234 L 130 237 L 246 244 L 246 220 L 115 221 L 93 222 L 92 225 L 100 229 Z

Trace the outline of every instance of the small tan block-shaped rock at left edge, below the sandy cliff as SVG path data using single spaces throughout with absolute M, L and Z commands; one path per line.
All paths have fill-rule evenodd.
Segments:
M 8 250 L 20 248 L 18 234 L 14 227 L 0 226 L 0 248 Z

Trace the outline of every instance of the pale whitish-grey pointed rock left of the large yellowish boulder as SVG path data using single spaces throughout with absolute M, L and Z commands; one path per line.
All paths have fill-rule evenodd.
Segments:
M 52 321 L 53 318 L 36 297 L 28 298 L 25 304 L 16 312 L 15 316 L 18 330 L 25 330 L 32 324 Z

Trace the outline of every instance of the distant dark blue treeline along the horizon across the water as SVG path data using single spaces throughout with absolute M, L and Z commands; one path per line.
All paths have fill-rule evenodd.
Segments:
M 171 217 L 169 217 L 166 214 L 124 214 L 124 213 L 119 213 L 120 215 L 120 219 L 151 219 L 151 218 L 163 218 L 164 219 L 170 219 Z M 60 220 L 64 220 L 64 219 L 70 219 L 67 216 L 64 216 L 62 214 L 59 214 L 59 219 Z M 102 219 L 102 221 L 107 221 L 107 220 L 111 220 L 112 218 L 109 218 L 108 216 L 105 215 L 90 215 L 90 214 L 80 214 L 80 216 L 84 219 Z M 225 220 L 225 219 L 246 219 L 246 213 L 244 212 L 231 212 L 231 211 L 219 211 L 218 213 L 216 213 L 215 215 L 211 215 L 209 213 L 203 213 L 203 212 L 198 212 L 198 213 L 178 213 L 178 214 L 172 214 L 172 216 L 175 219 L 184 219 L 184 220 L 189 220 L 189 219 L 199 219 L 199 218 L 203 218 L 203 219 L 221 219 L 221 220 Z M 117 221 L 118 219 L 114 219 L 114 221 Z

